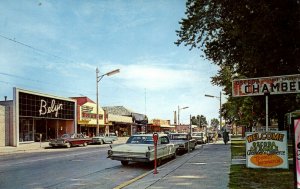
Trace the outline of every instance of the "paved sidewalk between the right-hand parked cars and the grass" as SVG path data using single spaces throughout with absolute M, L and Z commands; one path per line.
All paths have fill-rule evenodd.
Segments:
M 115 189 L 223 189 L 228 188 L 231 165 L 230 143 L 206 144 L 176 160 L 123 183 Z

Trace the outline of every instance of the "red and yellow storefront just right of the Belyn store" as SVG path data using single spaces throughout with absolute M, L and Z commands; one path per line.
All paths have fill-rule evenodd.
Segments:
M 77 101 L 77 132 L 89 137 L 96 135 L 97 104 L 88 97 L 71 97 Z M 108 132 L 108 120 L 104 110 L 99 106 L 99 133 Z

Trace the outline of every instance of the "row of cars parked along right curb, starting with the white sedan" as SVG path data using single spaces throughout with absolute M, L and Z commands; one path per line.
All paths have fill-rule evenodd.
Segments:
M 186 153 L 195 149 L 198 141 L 188 133 L 158 134 L 157 164 L 168 158 L 176 158 L 179 153 Z M 121 161 L 122 165 L 129 162 L 154 161 L 155 149 L 153 134 L 132 135 L 125 144 L 110 145 L 108 158 Z

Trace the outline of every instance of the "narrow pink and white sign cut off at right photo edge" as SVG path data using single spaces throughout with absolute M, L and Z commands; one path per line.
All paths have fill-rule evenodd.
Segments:
M 297 188 L 300 188 L 300 119 L 294 120 L 294 131 L 295 131 L 295 154 L 296 154 L 296 177 L 297 177 Z

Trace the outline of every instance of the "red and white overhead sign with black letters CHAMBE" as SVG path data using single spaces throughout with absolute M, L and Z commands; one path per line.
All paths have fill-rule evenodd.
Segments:
M 300 93 L 300 74 L 237 79 L 232 82 L 234 97 L 264 95 L 265 93 Z

